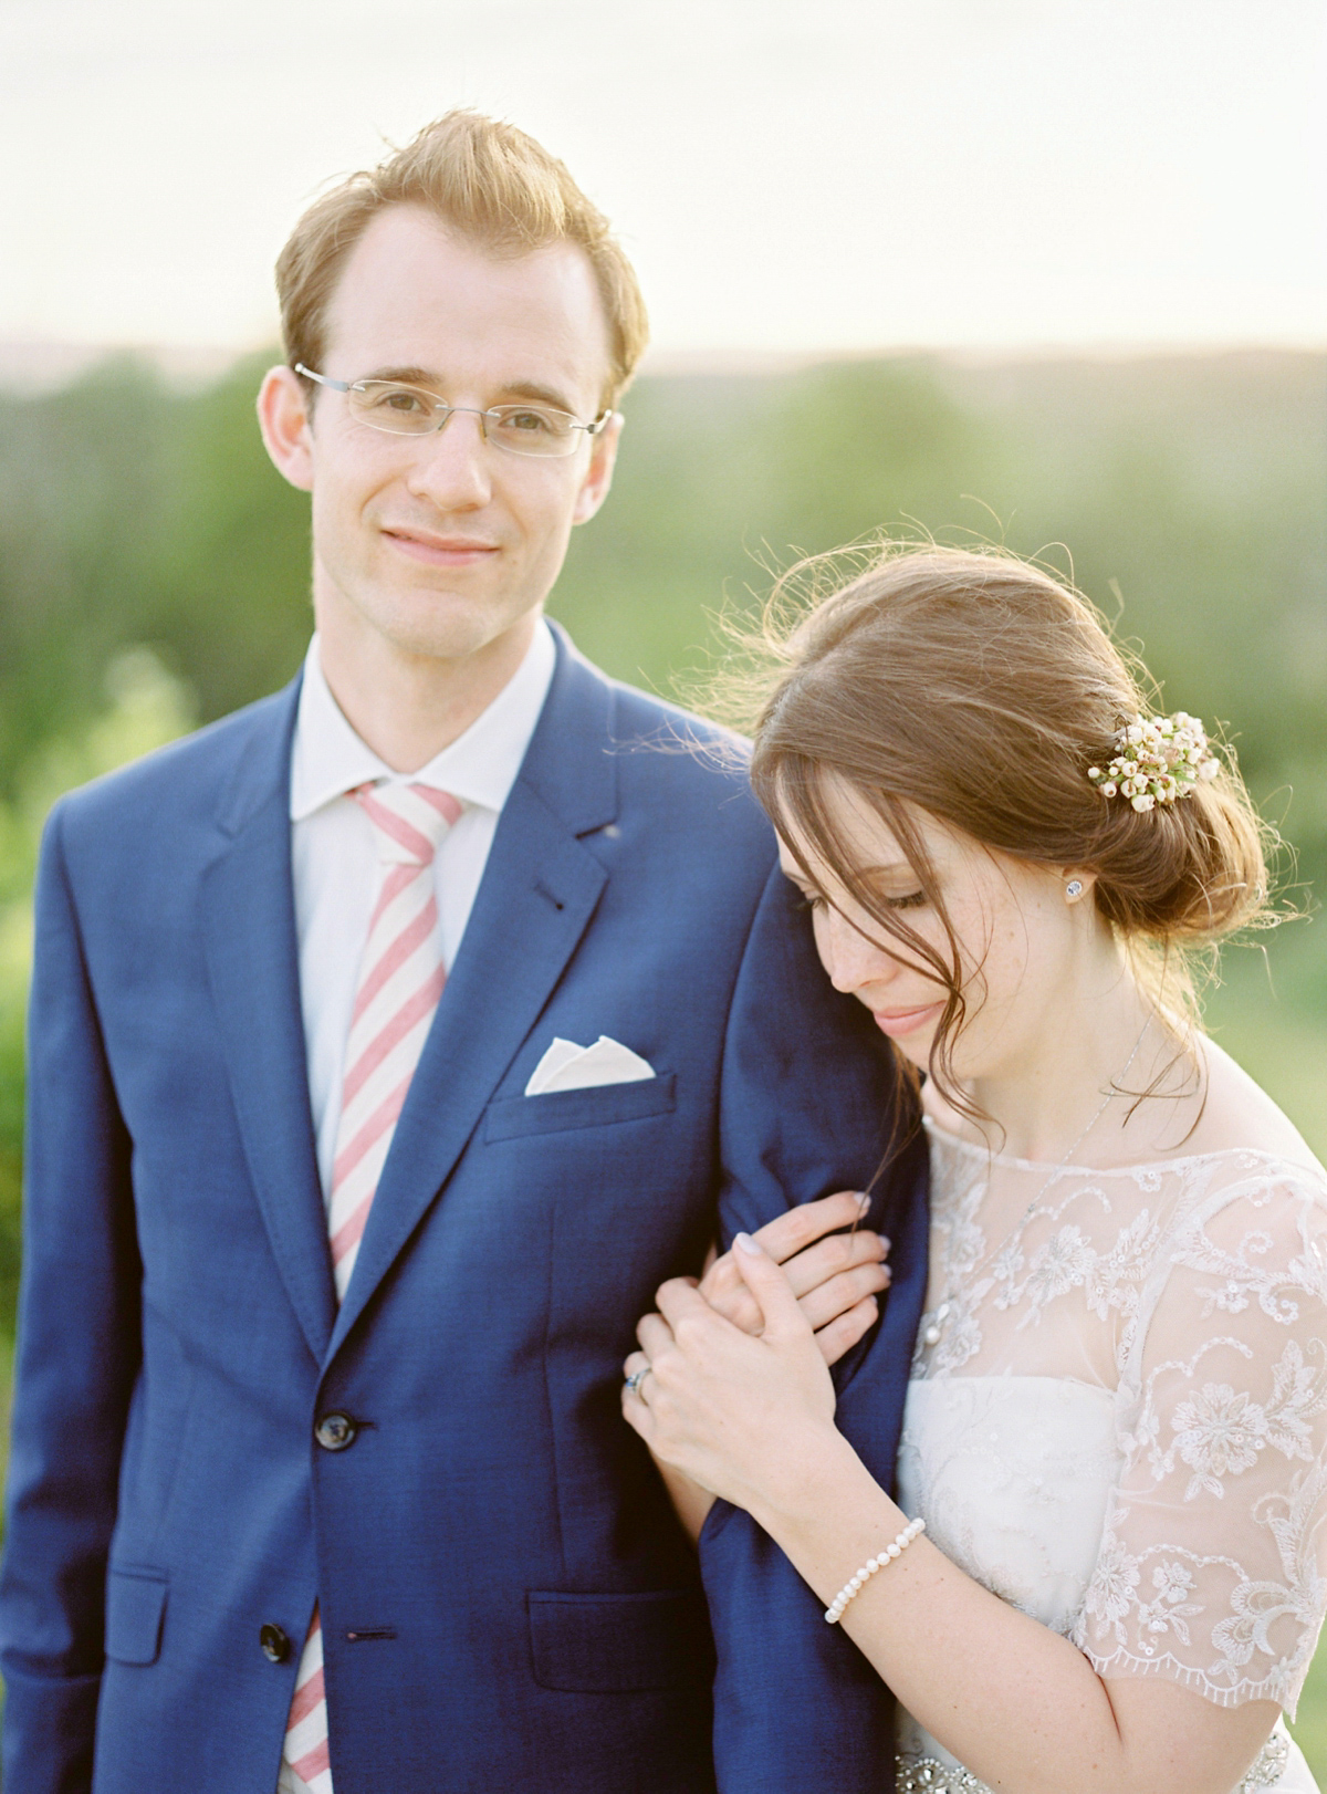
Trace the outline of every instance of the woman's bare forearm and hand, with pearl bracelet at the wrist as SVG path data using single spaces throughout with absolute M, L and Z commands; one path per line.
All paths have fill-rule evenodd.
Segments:
M 662 1315 L 640 1326 L 653 1374 L 624 1412 L 658 1459 L 744 1507 L 828 1606 L 906 1516 L 834 1426 L 825 1360 L 778 1265 L 742 1241 L 735 1261 L 762 1335 L 732 1328 L 690 1285 L 665 1285 Z M 1002 1794 L 1230 1794 L 1279 1713 L 1157 1679 L 1103 1681 L 925 1536 L 841 1624 L 909 1713 Z

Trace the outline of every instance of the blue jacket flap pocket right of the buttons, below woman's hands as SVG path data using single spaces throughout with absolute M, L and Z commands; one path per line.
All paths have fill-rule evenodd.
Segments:
M 708 1685 L 714 1677 L 710 1620 L 699 1589 L 531 1593 L 527 1600 L 540 1688 L 633 1694 Z

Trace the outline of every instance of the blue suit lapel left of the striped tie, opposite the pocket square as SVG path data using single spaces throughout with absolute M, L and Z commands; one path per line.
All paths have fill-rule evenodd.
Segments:
M 291 734 L 298 684 L 249 743 L 203 875 L 203 945 L 235 1112 L 267 1236 L 321 1363 L 335 1290 L 308 1109 L 291 881 Z

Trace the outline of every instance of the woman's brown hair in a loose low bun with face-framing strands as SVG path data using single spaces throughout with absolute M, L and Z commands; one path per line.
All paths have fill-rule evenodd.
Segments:
M 1044 867 L 1096 874 L 1092 897 L 1182 1037 L 1196 1014 L 1193 949 L 1268 917 L 1264 841 L 1236 770 L 1191 797 L 1137 813 L 1103 798 L 1115 732 L 1158 705 L 1088 605 L 1044 567 L 1002 549 L 886 542 L 825 590 L 843 553 L 791 569 L 746 667 L 721 675 L 730 716 L 759 700 L 751 780 L 789 845 L 805 843 L 882 935 L 949 992 L 931 1069 L 958 1107 L 952 1042 L 967 1005 L 959 944 L 916 811 Z M 811 587 L 811 605 L 805 594 Z M 941 919 L 949 954 L 884 904 L 854 863 L 832 809 L 841 780 L 902 845 Z M 809 870 L 803 867 L 803 870 Z M 884 944 L 884 942 L 880 942 Z

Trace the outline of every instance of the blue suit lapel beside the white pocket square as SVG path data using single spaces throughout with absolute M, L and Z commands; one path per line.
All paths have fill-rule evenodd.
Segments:
M 332 1351 L 450 1177 L 594 915 L 608 874 L 577 836 L 617 813 L 611 712 L 611 687 L 558 631 L 549 698 L 396 1123 Z

